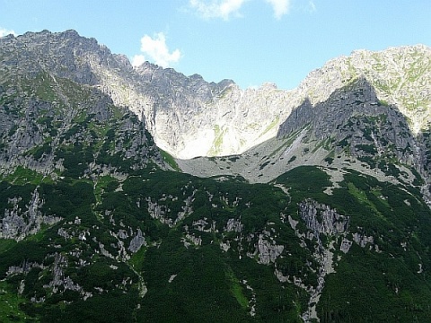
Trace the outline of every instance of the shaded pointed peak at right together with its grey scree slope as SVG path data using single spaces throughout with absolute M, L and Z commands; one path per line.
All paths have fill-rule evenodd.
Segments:
M 251 182 L 271 181 L 300 165 L 330 166 L 334 186 L 339 169 L 348 167 L 382 180 L 415 185 L 423 180 L 428 196 L 430 135 L 427 130 L 415 135 L 410 123 L 397 106 L 379 100 L 362 77 L 327 100 L 314 105 L 304 100 L 280 124 L 277 137 L 246 153 L 179 164 L 200 177 L 230 174 Z

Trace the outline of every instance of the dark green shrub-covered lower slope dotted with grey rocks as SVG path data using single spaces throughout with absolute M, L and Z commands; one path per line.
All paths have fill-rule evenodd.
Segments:
M 12 216 L 40 230 L 0 240 L 2 321 L 431 315 L 431 213 L 416 189 L 345 170 L 327 192 L 317 167 L 254 185 L 167 170 L 20 174 L 1 183 L 2 229 Z

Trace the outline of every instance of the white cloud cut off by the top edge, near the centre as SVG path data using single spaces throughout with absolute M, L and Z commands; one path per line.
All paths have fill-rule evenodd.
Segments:
M 233 13 L 241 15 L 239 11 L 246 1 L 248 0 L 189 0 L 189 4 L 205 19 L 222 18 L 227 21 Z

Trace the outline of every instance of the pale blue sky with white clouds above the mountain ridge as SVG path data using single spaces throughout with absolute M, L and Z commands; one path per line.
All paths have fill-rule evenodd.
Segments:
M 356 49 L 431 46 L 431 1 L 0 0 L 0 37 L 70 29 L 134 65 L 287 90 Z

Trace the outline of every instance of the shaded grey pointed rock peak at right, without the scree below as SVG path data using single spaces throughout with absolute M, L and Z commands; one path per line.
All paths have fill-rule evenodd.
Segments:
M 358 158 L 386 154 L 418 168 L 422 163 L 414 149 L 421 143 L 411 132 L 406 116 L 397 107 L 378 100 L 374 87 L 365 78 L 313 107 L 305 100 L 280 125 L 277 137 L 305 127 L 310 128 L 307 141 L 330 140 L 339 147 L 336 153 L 348 149 L 350 155 Z

